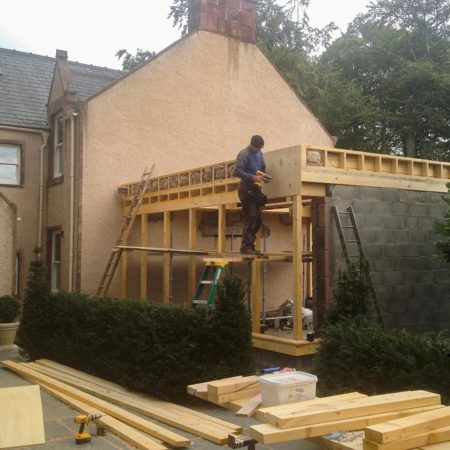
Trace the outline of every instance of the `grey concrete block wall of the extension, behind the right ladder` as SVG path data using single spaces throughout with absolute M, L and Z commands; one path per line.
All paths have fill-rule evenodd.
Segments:
M 353 206 L 386 326 L 450 329 L 450 265 L 435 258 L 433 233 L 447 210 L 442 194 L 334 186 L 330 204 Z M 334 220 L 331 230 L 334 279 L 345 263 Z

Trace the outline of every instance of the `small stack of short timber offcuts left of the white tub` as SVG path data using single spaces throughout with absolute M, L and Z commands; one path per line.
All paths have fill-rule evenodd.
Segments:
M 236 411 L 239 416 L 250 417 L 261 404 L 261 388 L 255 375 L 191 384 L 187 391 L 203 400 Z

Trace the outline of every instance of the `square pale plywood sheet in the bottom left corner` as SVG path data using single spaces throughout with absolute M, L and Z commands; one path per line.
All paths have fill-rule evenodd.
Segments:
M 45 442 L 39 386 L 0 389 L 0 448 Z

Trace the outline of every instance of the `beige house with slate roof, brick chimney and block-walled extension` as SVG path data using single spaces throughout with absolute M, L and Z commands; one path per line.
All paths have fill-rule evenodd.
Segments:
M 13 184 L 10 181 L 0 187 L 0 224 L 2 230 L 7 230 L 0 237 L 1 248 L 6 249 L 1 262 L 8 268 L 6 275 L 1 275 L 5 277 L 0 283 L 3 292 L 23 289 L 31 249 L 39 244 L 47 258 L 52 289 L 95 293 L 121 228 L 122 197 L 117 188 L 138 180 L 145 167 L 154 165 L 152 177 L 162 180 L 158 183 L 170 183 L 168 174 L 179 177 L 198 167 L 233 160 L 253 134 L 264 136 L 267 155 L 269 150 L 297 148 L 299 144 L 311 144 L 322 156 L 328 155 L 334 139 L 255 44 L 255 5 L 255 0 L 192 2 L 189 34 L 128 74 L 72 63 L 61 51 L 53 59 L 2 50 L 0 55 L 20 56 L 20 64 L 25 68 L 34 64 L 36 71 L 23 82 L 25 87 L 34 88 L 22 99 L 15 97 L 22 88 L 11 78 L 2 80 L 0 76 L 0 95 L 3 98 L 1 83 L 6 80 L 4 84 L 10 91 L 5 98 L 13 100 L 6 112 L 0 109 L 0 144 L 6 155 L 6 169 L 1 170 L 16 174 Z M 0 61 L 6 74 L 3 56 Z M 19 72 L 27 72 L 19 69 L 20 64 L 16 64 L 13 78 L 20 79 Z M 38 92 L 40 96 L 36 97 Z M 20 111 L 24 107 L 27 114 L 34 114 L 32 120 L 27 121 L 25 116 L 15 122 L 20 114 L 14 108 Z M 297 155 L 296 151 L 283 154 Z M 12 162 L 6 159 L 10 154 Z M 341 168 L 339 164 L 348 158 L 348 167 L 341 168 L 346 173 L 366 169 L 361 163 L 364 155 L 330 155 L 336 168 Z M 326 158 L 322 159 L 324 164 L 329 162 Z M 281 159 L 286 165 L 291 162 L 289 156 Z M 410 183 L 415 190 L 399 191 L 402 186 L 410 189 L 409 182 L 397 180 L 377 186 L 364 184 L 363 177 L 348 188 L 342 182 L 345 177 L 340 175 L 339 179 L 327 175 L 326 182 L 325 178 L 319 180 L 323 181 L 320 198 L 313 199 L 307 218 L 316 229 L 314 296 L 323 312 L 331 297 L 335 261 L 340 258 L 330 208 L 346 208 L 356 202 L 356 214 L 364 215 L 362 234 L 390 324 L 409 326 L 422 321 L 424 327 L 444 326 L 447 319 L 439 315 L 439 310 L 447 310 L 448 271 L 428 259 L 432 252 L 432 222 L 444 211 L 439 193 L 442 187 L 433 192 L 434 178 L 440 177 L 442 184 L 450 176 L 449 169 L 443 164 L 436 164 L 434 169 L 431 163 L 424 163 L 427 168 L 423 169 L 425 166 L 419 162 L 398 160 L 387 158 L 388 174 L 399 178 L 420 171 L 420 176 L 425 174 L 427 178 L 425 182 Z M 383 172 L 383 158 L 370 161 Z M 273 160 L 273 165 L 277 164 Z M 278 180 L 283 178 L 280 169 Z M 373 175 L 366 179 L 373 179 Z M 169 199 L 170 195 L 161 192 L 161 198 L 155 201 Z M 141 245 L 141 231 L 146 230 L 147 245 L 188 248 L 195 202 L 190 209 L 169 214 L 162 208 L 158 214 L 141 217 L 128 243 Z M 205 207 L 197 217 L 201 229 L 196 244 L 199 249 L 218 244 L 222 225 L 214 219 L 217 213 L 208 210 L 211 207 Z M 265 218 L 269 249 L 292 249 L 292 220 L 289 214 L 282 216 Z M 239 218 L 228 225 L 239 229 Z M 235 239 L 230 232 L 220 245 L 227 250 L 234 245 L 236 249 Z M 120 291 L 121 280 L 116 276 L 111 295 L 174 302 L 189 297 L 182 257 L 173 264 L 163 255 L 143 258 L 130 254 L 124 259 L 122 280 L 127 278 L 126 286 L 122 282 Z M 194 274 L 200 265 L 201 260 L 195 262 Z M 245 273 L 245 267 L 240 270 Z M 147 273 L 151 274 L 148 280 Z M 270 269 L 269 275 L 278 281 L 267 283 L 266 306 L 277 306 L 292 296 L 295 273 L 286 265 Z M 169 278 L 177 280 L 170 292 Z M 192 289 L 192 279 L 190 284 Z M 427 309 L 429 303 L 433 307 Z M 402 322 L 405 317 L 407 320 Z

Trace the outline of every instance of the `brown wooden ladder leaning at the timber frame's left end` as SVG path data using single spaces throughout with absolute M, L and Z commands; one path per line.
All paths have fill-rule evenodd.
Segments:
M 111 285 L 112 279 L 123 252 L 123 248 L 117 247 L 123 245 L 127 241 L 128 234 L 133 227 L 134 219 L 136 219 L 136 216 L 139 212 L 139 208 L 141 207 L 144 195 L 149 189 L 150 176 L 153 172 L 154 167 L 154 164 L 152 165 L 150 170 L 147 170 L 146 167 L 141 179 L 139 180 L 139 183 L 132 188 L 133 199 L 131 200 L 130 207 L 128 208 L 128 212 L 124 218 L 119 237 L 116 241 L 116 245 L 111 251 L 111 256 L 108 259 L 105 271 L 103 272 L 102 278 L 100 279 L 100 283 L 97 288 L 98 297 L 104 297 L 108 293 L 109 286 Z

